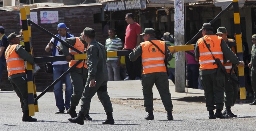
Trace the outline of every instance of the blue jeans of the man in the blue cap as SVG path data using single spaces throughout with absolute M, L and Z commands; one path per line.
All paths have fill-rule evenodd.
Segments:
M 68 68 L 69 68 L 68 63 L 63 65 L 53 65 L 54 81 L 58 79 L 64 72 L 66 72 Z M 64 103 L 63 91 L 62 91 L 63 89 L 62 83 L 64 79 L 65 79 L 65 85 L 66 85 L 65 103 Z M 65 110 L 65 108 L 66 110 L 69 109 L 71 95 L 73 94 L 73 88 L 71 86 L 69 73 L 66 74 L 64 79 L 60 80 L 54 85 L 54 96 L 55 96 L 56 106 L 59 108 L 59 110 Z

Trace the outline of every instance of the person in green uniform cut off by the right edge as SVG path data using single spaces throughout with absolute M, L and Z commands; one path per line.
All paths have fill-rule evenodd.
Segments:
M 256 34 L 252 36 L 253 40 L 253 47 L 252 47 L 252 58 L 251 62 L 248 64 L 249 68 L 252 69 L 251 71 L 251 76 L 252 76 L 252 87 L 253 87 L 253 92 L 254 92 L 254 101 L 250 103 L 250 105 L 256 105 Z

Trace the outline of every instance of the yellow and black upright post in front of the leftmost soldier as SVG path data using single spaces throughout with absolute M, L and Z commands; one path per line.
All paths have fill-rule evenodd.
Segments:
M 29 7 L 21 8 L 21 23 L 24 37 L 25 50 L 32 54 L 31 52 L 31 27 L 28 25 L 27 19 L 30 18 Z M 29 116 L 34 116 L 35 112 L 38 112 L 38 104 L 34 102 L 34 97 L 36 97 L 36 87 L 35 79 L 33 75 L 33 67 L 27 62 L 27 79 L 28 79 L 28 110 Z

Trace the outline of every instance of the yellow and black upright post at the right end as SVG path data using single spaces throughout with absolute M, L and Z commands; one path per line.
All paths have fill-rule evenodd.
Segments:
M 234 22 L 235 22 L 235 40 L 237 42 L 237 56 L 239 61 L 243 61 L 242 35 L 240 26 L 240 14 L 238 0 L 233 0 Z M 238 66 L 239 83 L 240 83 L 240 99 L 246 99 L 246 89 L 244 81 L 244 67 Z

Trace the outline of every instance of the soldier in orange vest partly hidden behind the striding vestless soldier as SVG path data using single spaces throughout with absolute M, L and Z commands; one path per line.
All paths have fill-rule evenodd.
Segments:
M 85 53 L 85 50 L 88 48 L 88 44 L 85 42 L 84 39 L 82 39 L 84 36 L 81 34 L 81 36 L 78 37 L 71 37 L 68 39 L 65 39 L 64 41 L 68 44 L 72 45 L 76 49 L 78 49 L 80 52 Z M 72 55 L 79 54 L 72 50 L 71 48 L 66 47 L 64 44 L 59 45 L 61 51 L 66 56 L 66 60 L 69 62 L 69 67 L 73 66 L 78 60 L 73 60 L 71 57 Z M 75 118 L 77 116 L 76 114 L 76 106 L 78 106 L 79 101 L 82 97 L 83 90 L 85 88 L 87 75 L 88 75 L 88 69 L 87 69 L 87 59 L 83 60 L 76 68 L 74 68 L 69 74 L 71 79 L 71 84 L 73 86 L 73 94 L 71 96 L 70 101 L 70 108 L 67 110 L 67 113 L 70 114 L 71 118 Z M 92 118 L 90 118 L 89 113 L 87 113 L 84 117 L 84 120 L 92 121 Z

